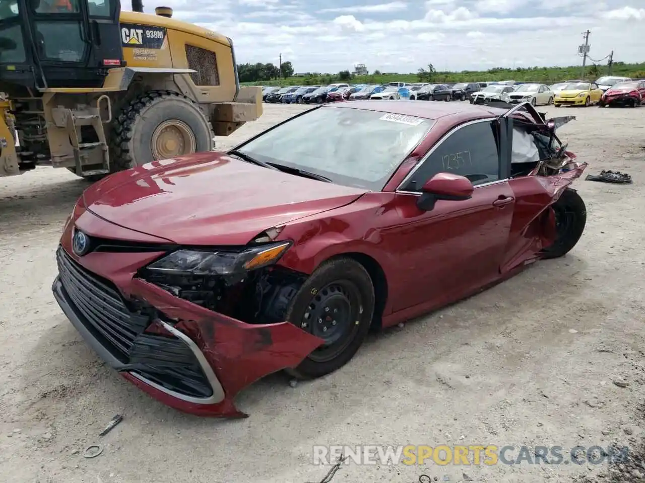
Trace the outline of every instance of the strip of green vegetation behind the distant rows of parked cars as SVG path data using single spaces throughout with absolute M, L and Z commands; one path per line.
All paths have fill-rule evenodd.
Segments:
M 606 66 L 588 66 L 585 77 L 597 79 L 608 74 Z M 496 68 L 488 71 L 436 72 L 430 82 L 486 82 L 486 81 L 535 81 L 553 84 L 568 79 L 579 79 L 581 66 L 570 67 L 533 67 L 503 69 Z M 645 62 L 626 64 L 615 62 L 611 75 L 645 78 Z M 351 81 L 341 81 L 338 74 L 314 74 L 309 77 L 289 77 L 281 81 L 243 82 L 245 86 L 315 86 L 331 84 L 332 82 L 352 82 L 353 84 L 386 84 L 387 82 L 419 82 L 416 73 L 377 74 L 353 76 Z M 425 82 L 428 82 L 427 80 Z

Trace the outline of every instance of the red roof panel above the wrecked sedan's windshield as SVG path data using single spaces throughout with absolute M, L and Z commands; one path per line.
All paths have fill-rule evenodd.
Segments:
M 392 100 L 352 100 L 331 102 L 323 108 L 364 109 L 384 113 L 401 114 L 437 120 L 442 117 L 459 117 L 462 120 L 496 117 L 506 112 L 506 109 L 491 108 L 468 102 L 408 102 Z

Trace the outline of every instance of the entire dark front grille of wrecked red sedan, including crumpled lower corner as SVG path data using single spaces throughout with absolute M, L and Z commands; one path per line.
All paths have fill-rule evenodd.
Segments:
M 212 386 L 192 349 L 175 336 L 146 334 L 155 309 L 125 301 L 112 282 L 88 272 L 59 247 L 59 276 L 72 308 L 92 336 L 122 364 L 168 391 L 210 397 Z M 138 307 L 130 310 L 128 305 Z

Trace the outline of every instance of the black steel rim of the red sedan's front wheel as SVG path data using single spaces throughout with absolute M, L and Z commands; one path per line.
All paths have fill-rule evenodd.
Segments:
M 324 343 L 309 359 L 324 363 L 341 354 L 358 331 L 362 312 L 361 292 L 349 280 L 333 281 L 315 292 L 300 327 Z

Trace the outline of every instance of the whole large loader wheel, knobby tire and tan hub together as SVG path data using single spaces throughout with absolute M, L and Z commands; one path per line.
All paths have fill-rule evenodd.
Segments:
M 164 131 L 170 144 L 163 143 Z M 112 122 L 110 171 L 212 151 L 213 137 L 210 121 L 193 100 L 174 91 L 146 92 L 126 104 Z

